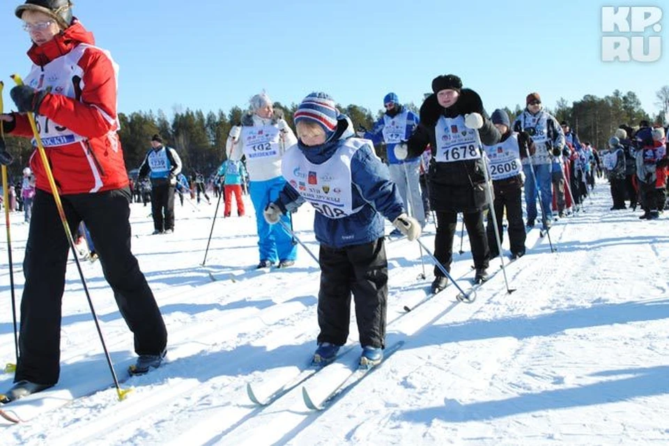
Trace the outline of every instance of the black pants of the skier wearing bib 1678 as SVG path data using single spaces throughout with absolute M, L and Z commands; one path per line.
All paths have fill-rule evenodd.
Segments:
M 458 224 L 458 213 L 455 211 L 438 210 L 436 214 L 437 233 L 434 238 L 434 256 L 450 272 L 451 262 L 453 261 L 453 238 Z M 474 267 L 477 270 L 488 268 L 490 250 L 488 247 L 488 238 L 486 237 L 486 229 L 483 226 L 483 211 L 463 213 L 462 217 L 467 228 L 469 244 L 472 248 Z M 435 266 L 434 275 L 435 277 L 443 277 L 444 273 Z

